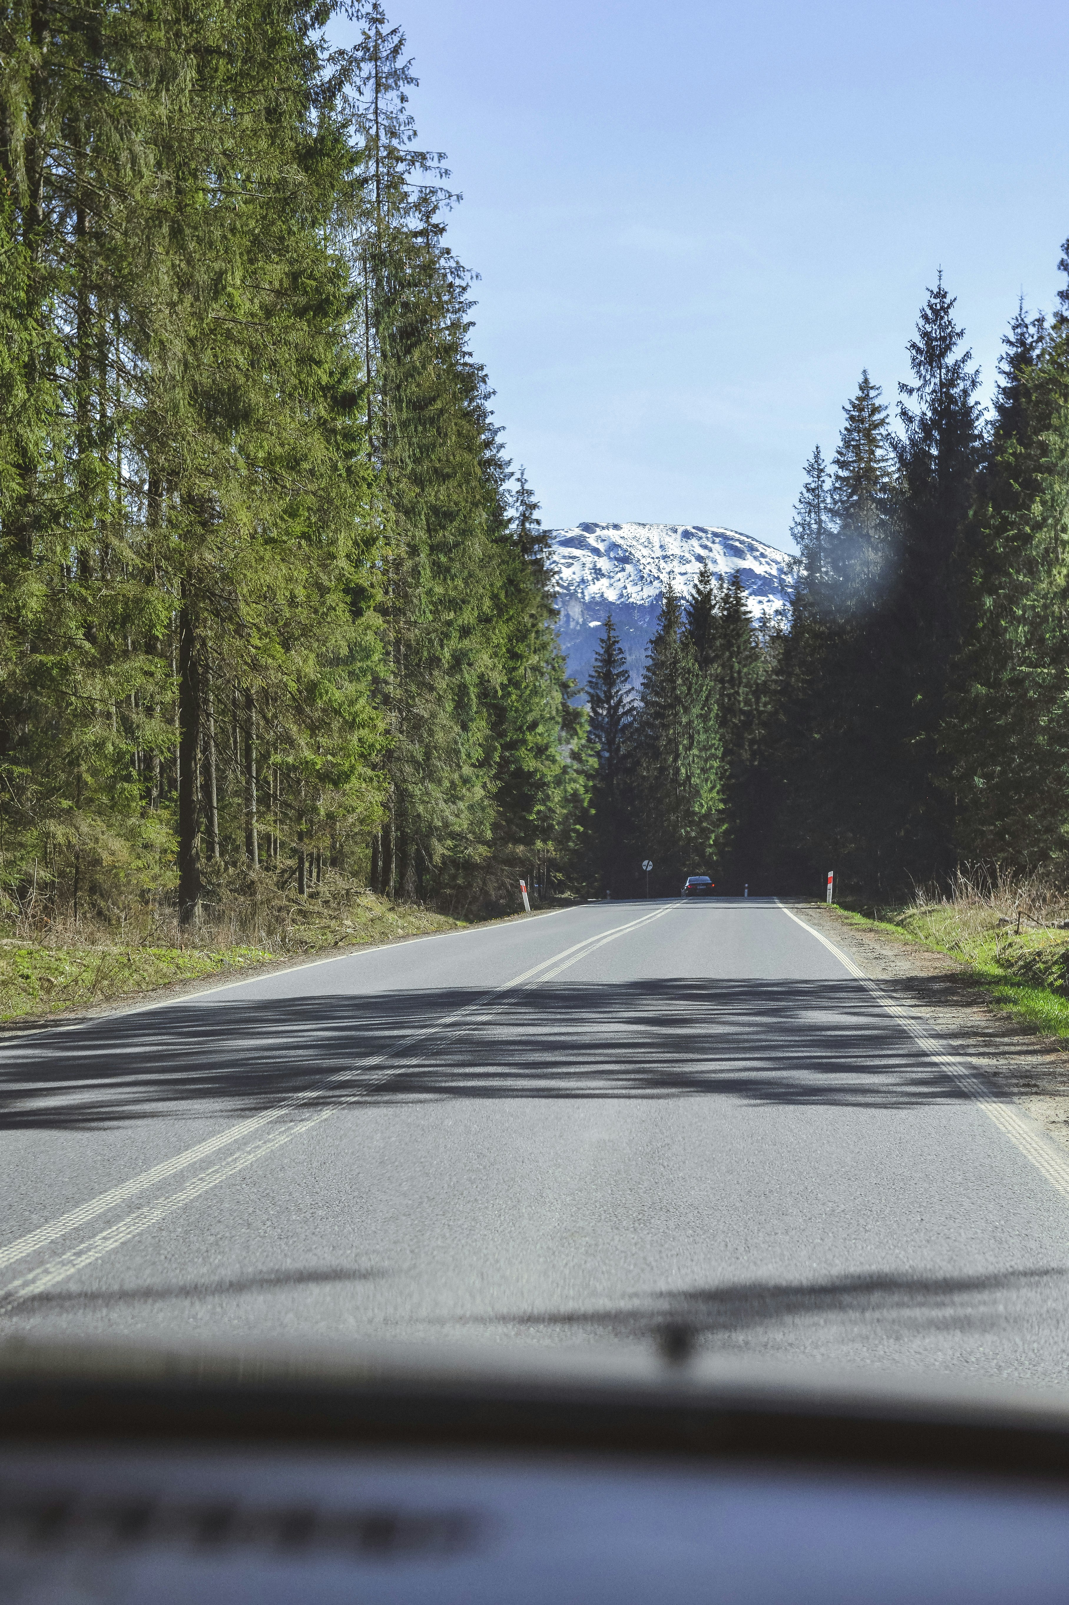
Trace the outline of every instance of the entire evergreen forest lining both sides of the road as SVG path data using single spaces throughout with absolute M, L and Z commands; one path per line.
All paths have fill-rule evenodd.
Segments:
M 984 411 L 939 276 L 804 465 L 790 615 L 705 570 L 578 689 L 379 0 L 0 18 L 0 896 L 1064 875 L 1069 289 Z

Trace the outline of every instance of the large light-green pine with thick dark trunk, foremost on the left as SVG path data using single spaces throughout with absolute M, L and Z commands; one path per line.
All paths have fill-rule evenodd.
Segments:
M 19 522 L 35 530 L 6 687 L 32 711 L 6 724 L 5 758 L 56 897 L 165 881 L 177 846 L 191 923 L 205 812 L 213 862 L 230 831 L 255 863 L 265 769 L 276 843 L 281 812 L 302 828 L 299 793 L 334 788 L 352 817 L 369 790 L 348 607 L 363 469 L 329 246 L 350 157 L 310 13 L 71 21 L 30 96 L 51 119 L 30 141 L 30 210 L 61 401 L 47 494 L 22 475 L 3 517 L 5 549 Z M 231 698 L 246 730 L 228 775 L 215 714 Z M 282 746 L 287 798 L 263 762 Z

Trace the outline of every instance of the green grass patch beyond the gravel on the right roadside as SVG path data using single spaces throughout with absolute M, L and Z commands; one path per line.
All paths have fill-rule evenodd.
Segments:
M 1024 928 L 982 899 L 886 908 L 872 918 L 839 908 L 849 924 L 947 953 L 998 1008 L 1034 1030 L 1069 1037 L 1069 933 Z

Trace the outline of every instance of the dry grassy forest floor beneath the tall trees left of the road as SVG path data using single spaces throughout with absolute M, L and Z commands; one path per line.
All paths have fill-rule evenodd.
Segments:
M 343 904 L 313 896 L 297 912 L 297 923 L 292 915 L 284 928 L 271 921 L 276 928 L 257 933 L 258 942 L 234 941 L 234 929 L 225 924 L 201 931 L 181 947 L 161 942 L 159 929 L 128 931 L 125 939 L 106 928 L 47 928 L 32 936 L 0 937 L 0 1027 L 106 1013 L 109 1005 L 141 995 L 196 990 L 197 982 L 213 976 L 249 974 L 327 950 L 459 931 L 467 923 L 363 892 Z

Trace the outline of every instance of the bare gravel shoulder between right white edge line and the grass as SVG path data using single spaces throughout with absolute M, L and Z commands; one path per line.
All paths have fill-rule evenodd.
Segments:
M 945 953 L 862 929 L 825 904 L 791 905 L 791 912 L 836 942 L 859 969 L 908 1005 L 953 1053 L 1069 1149 L 1069 1053 L 1059 1038 L 1024 1027 Z

